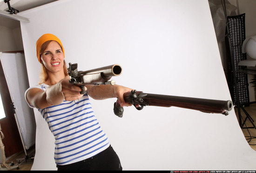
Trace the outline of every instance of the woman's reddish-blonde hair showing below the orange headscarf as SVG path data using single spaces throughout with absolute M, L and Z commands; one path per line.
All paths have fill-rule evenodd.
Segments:
M 42 44 L 42 46 L 40 47 L 40 57 L 42 56 L 42 53 L 45 51 L 45 49 L 48 47 L 48 45 L 50 44 L 51 41 L 54 41 L 54 40 L 48 40 L 48 41 L 46 41 L 46 42 L 44 42 Z M 60 45 L 61 50 L 63 51 L 63 48 L 62 48 L 61 44 L 60 43 L 58 43 L 58 44 Z M 63 64 L 63 70 L 64 70 L 65 76 L 67 76 L 68 73 L 67 73 L 67 66 L 66 66 L 65 60 L 64 60 L 64 64 Z M 46 67 L 44 66 L 44 64 L 42 62 L 41 62 L 41 72 L 40 72 L 40 76 L 39 77 L 40 77 L 39 84 L 44 83 L 49 78 L 47 70 L 46 70 Z

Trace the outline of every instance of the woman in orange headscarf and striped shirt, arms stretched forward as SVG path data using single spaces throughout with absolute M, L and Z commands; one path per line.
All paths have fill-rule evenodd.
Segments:
M 32 108 L 38 108 L 55 138 L 54 160 L 58 170 L 122 170 L 120 160 L 107 135 L 94 116 L 88 95 L 96 100 L 118 98 L 132 89 L 119 85 L 85 86 L 69 83 L 65 52 L 53 34 L 44 34 L 36 42 L 38 61 L 42 66 L 40 84 L 27 89 L 25 97 Z M 75 101 L 79 100 L 79 104 Z

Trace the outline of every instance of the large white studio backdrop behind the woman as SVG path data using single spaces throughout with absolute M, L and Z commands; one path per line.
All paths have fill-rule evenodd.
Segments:
M 120 64 L 116 83 L 144 93 L 231 100 L 207 0 L 59 0 L 19 13 L 30 86 L 39 81 L 35 42 L 53 33 L 78 70 Z M 93 100 L 124 170 L 255 170 L 256 152 L 228 116 L 177 107 Z M 54 139 L 35 110 L 33 170 L 56 169 Z

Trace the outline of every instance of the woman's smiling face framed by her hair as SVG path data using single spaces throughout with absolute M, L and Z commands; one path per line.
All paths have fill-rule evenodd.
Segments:
M 41 55 L 41 61 L 52 73 L 63 70 L 64 53 L 56 41 L 51 41 Z

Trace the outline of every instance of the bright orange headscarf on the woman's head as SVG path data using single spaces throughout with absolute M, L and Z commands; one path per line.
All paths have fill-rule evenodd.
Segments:
M 61 44 L 61 40 L 58 39 L 58 37 L 56 37 L 54 34 L 46 33 L 46 34 L 43 34 L 36 41 L 36 56 L 37 56 L 37 59 L 38 59 L 39 62 L 40 62 L 40 48 L 41 48 L 42 44 L 44 44 L 46 41 L 49 41 L 49 40 L 54 40 L 54 41 L 57 41 L 58 43 L 60 43 L 60 45 L 62 47 L 62 51 L 63 51 L 64 57 L 65 57 L 64 47 Z

